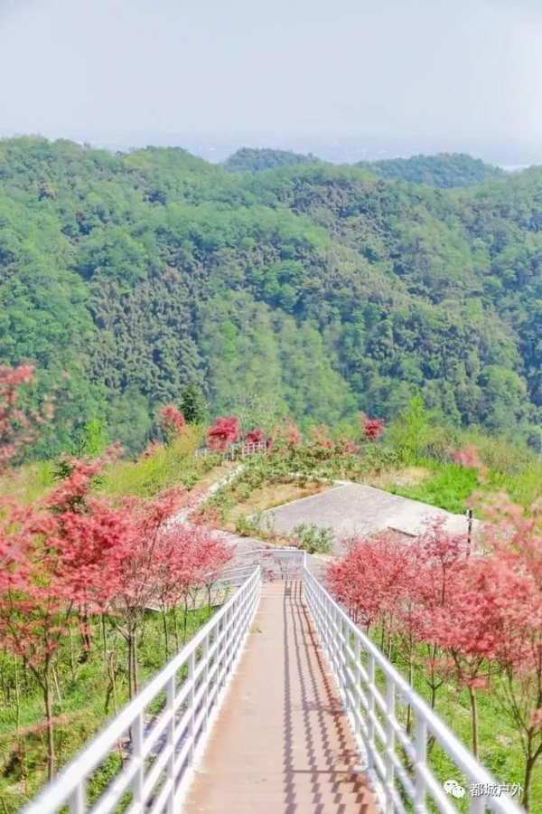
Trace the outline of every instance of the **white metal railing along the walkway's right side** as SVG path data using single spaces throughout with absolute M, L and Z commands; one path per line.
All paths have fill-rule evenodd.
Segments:
M 457 814 L 443 782 L 429 768 L 428 737 L 444 752 L 451 765 L 451 780 L 480 789 L 500 789 L 463 743 L 387 658 L 341 609 L 322 583 L 304 567 L 304 597 L 333 677 L 350 718 L 364 768 L 373 782 L 386 814 L 438 810 Z M 406 732 L 399 711 L 410 706 L 412 726 Z M 453 778 L 453 771 L 457 777 Z M 428 805 L 428 800 L 432 803 Z M 469 811 L 482 814 L 521 814 L 523 809 L 508 794 L 471 796 Z M 464 809 L 463 809 L 464 810 Z

